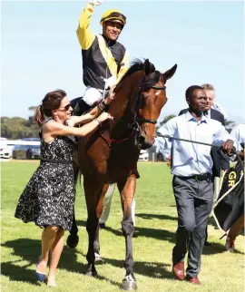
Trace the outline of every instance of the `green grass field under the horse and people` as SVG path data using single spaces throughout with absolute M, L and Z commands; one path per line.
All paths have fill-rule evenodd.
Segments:
M 14 218 L 15 206 L 38 161 L 2 162 L 2 291 L 45 291 L 48 288 L 36 281 L 34 270 L 40 254 L 41 232 L 34 223 L 25 224 Z M 209 241 L 204 248 L 200 279 L 201 287 L 173 279 L 171 249 L 174 245 L 177 214 L 171 190 L 171 174 L 163 163 L 139 163 L 141 179 L 137 180 L 136 227 L 133 238 L 134 272 L 138 290 L 149 291 L 243 291 L 243 237 L 237 239 L 236 253 L 224 248 L 223 234 L 209 225 Z M 64 248 L 58 268 L 55 291 L 119 291 L 124 277 L 124 238 L 121 232 L 122 210 L 119 194 L 107 222 L 108 229 L 100 235 L 103 264 L 97 266 L 99 277 L 85 277 L 87 233 L 83 190 L 78 187 L 76 218 L 79 223 L 78 248 Z M 67 237 L 68 234 L 66 234 Z

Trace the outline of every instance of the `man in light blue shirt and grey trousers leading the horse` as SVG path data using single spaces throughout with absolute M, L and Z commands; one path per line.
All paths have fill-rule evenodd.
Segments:
M 186 91 L 189 112 L 171 119 L 158 134 L 174 138 L 189 139 L 222 145 L 223 151 L 230 152 L 233 141 L 220 122 L 203 115 L 207 96 L 201 86 L 193 85 Z M 157 151 L 172 148 L 172 187 L 178 211 L 176 245 L 172 250 L 172 272 L 183 280 L 184 258 L 188 254 L 186 278 L 192 284 L 201 284 L 198 275 L 201 269 L 201 253 L 205 230 L 212 208 L 213 176 L 211 147 L 186 141 L 158 137 Z

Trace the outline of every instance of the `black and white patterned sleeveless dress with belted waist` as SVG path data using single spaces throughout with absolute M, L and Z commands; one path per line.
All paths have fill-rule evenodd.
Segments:
M 72 228 L 74 150 L 74 137 L 58 136 L 51 143 L 41 138 L 41 164 L 18 201 L 15 218 L 40 227 Z

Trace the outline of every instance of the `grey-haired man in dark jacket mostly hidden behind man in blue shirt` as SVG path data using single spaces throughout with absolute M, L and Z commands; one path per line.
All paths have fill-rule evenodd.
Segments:
M 203 85 L 201 85 L 201 88 L 204 90 L 204 92 L 206 93 L 206 96 L 207 96 L 207 106 L 205 108 L 204 114 L 208 118 L 215 120 L 215 121 L 218 121 L 223 126 L 225 126 L 224 115 L 221 112 L 211 108 L 211 106 L 213 104 L 213 100 L 214 100 L 213 86 L 210 84 L 203 84 Z M 209 88 L 209 89 L 207 89 L 207 88 Z M 188 112 L 188 111 L 189 111 L 189 109 L 181 110 L 179 115 L 182 113 Z M 215 198 L 217 199 L 219 192 L 220 192 L 220 179 L 219 179 L 220 174 L 221 174 L 221 171 L 227 170 L 229 168 L 230 160 L 226 155 L 224 155 L 223 153 L 220 153 L 218 147 L 211 148 L 211 159 L 213 161 L 212 175 L 215 177 L 214 193 L 215 193 Z M 208 241 L 208 225 L 207 225 L 206 239 L 205 239 L 204 245 L 207 247 L 211 246 L 211 243 Z

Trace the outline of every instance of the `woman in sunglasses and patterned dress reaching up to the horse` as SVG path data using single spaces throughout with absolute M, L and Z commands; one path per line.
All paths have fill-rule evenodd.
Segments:
M 15 217 L 25 223 L 34 223 L 44 228 L 42 255 L 36 266 L 36 276 L 45 279 L 49 251 L 51 262 L 47 285 L 55 287 L 55 270 L 64 248 L 64 230 L 73 223 L 74 179 L 73 136 L 83 137 L 97 129 L 101 122 L 113 117 L 102 112 L 105 103 L 113 99 L 113 93 L 90 113 L 80 117 L 71 116 L 72 107 L 63 90 L 49 92 L 35 112 L 35 121 L 41 126 L 41 164 L 27 183 L 20 197 Z M 98 116 L 96 118 L 96 116 Z M 91 122 L 90 122 L 91 121 Z M 88 122 L 80 128 L 73 128 Z

